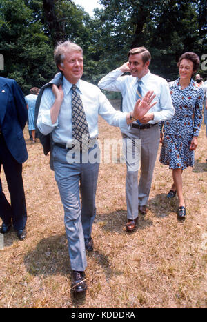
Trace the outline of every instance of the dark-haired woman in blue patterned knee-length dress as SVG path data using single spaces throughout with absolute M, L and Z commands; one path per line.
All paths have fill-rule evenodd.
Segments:
M 185 52 L 177 63 L 179 79 L 169 83 L 175 114 L 170 121 L 160 124 L 161 154 L 159 161 L 172 169 L 172 187 L 169 199 L 179 198 L 178 219 L 186 218 L 186 204 L 182 189 L 182 172 L 194 165 L 194 150 L 202 122 L 204 90 L 193 81 L 199 68 L 199 57 L 194 52 Z

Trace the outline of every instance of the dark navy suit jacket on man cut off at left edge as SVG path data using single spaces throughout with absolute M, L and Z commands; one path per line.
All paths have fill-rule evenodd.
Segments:
M 14 79 L 0 77 L 0 128 L 7 148 L 18 163 L 28 159 L 23 128 L 28 110 L 23 92 Z

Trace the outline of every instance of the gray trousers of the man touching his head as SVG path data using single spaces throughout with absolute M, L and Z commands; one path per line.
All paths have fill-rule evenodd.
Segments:
M 153 170 L 157 158 L 159 147 L 159 126 L 139 130 L 131 128 L 123 134 L 123 145 L 127 145 L 129 139 L 137 140 L 141 146 L 140 155 L 140 179 L 138 184 L 138 170 L 133 170 L 131 166 L 132 156 L 127 148 L 124 148 L 126 159 L 126 204 L 127 218 L 136 219 L 138 217 L 139 205 L 147 205 L 152 184 Z M 140 140 L 140 141 L 139 141 Z M 138 144 L 137 143 L 137 144 Z

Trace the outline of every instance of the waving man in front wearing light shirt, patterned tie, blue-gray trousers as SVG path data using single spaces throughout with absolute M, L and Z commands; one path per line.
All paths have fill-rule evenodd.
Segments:
M 65 213 L 72 290 L 83 292 L 87 288 L 86 250 L 93 250 L 91 231 L 99 172 L 98 116 L 125 132 L 133 119 L 143 117 L 155 104 L 155 95 L 148 92 L 130 113 L 116 111 L 97 86 L 81 80 L 83 51 L 79 46 L 65 41 L 55 48 L 54 56 L 63 81 L 59 87 L 51 83 L 43 91 L 37 127 L 44 135 L 52 133 L 52 161 Z M 93 158 L 89 158 L 91 155 Z

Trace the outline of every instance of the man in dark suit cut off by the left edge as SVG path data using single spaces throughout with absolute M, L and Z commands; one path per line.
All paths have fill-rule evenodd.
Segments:
M 22 163 L 28 159 L 23 128 L 28 111 L 23 92 L 13 79 L 0 77 L 0 172 L 1 165 L 8 183 L 11 203 L 2 190 L 0 178 L 0 232 L 5 234 L 13 223 L 20 240 L 26 238 L 26 200 L 23 190 Z

